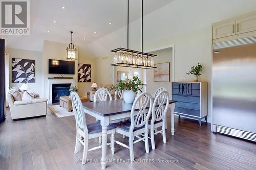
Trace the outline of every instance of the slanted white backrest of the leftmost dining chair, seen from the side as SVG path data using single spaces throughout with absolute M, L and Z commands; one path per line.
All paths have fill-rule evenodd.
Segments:
M 76 126 L 84 132 L 88 132 L 86 125 L 86 116 L 84 115 L 81 99 L 76 92 L 71 93 L 72 107 L 76 119 Z

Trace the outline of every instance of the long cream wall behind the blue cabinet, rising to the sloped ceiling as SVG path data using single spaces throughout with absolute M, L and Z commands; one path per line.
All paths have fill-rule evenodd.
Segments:
M 185 72 L 196 63 L 202 63 L 204 70 L 200 80 L 208 82 L 208 112 L 211 117 L 211 23 L 252 11 L 256 11 L 255 0 L 176 0 L 144 17 L 144 51 L 174 44 L 175 81 L 180 77 L 193 80 L 193 76 Z M 140 19 L 130 23 L 130 47 L 133 50 L 141 50 L 140 29 Z M 97 74 L 106 74 L 102 80 L 112 82 L 110 64 L 114 54 L 110 51 L 126 47 L 126 27 L 92 42 L 89 47 L 94 56 L 100 57 L 97 64 L 104 66 L 98 69 Z M 101 61 L 103 56 L 109 56 L 108 62 Z

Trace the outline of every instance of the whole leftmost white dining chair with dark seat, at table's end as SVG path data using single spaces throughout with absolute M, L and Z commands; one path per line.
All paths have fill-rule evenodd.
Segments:
M 76 145 L 74 153 L 78 153 L 79 143 L 83 145 L 83 156 L 82 156 L 82 164 L 86 163 L 87 153 L 88 151 L 93 151 L 101 148 L 101 146 L 94 147 L 88 150 L 89 139 L 96 138 L 101 136 L 101 125 L 100 121 L 96 121 L 94 123 L 87 124 L 86 116 L 84 115 L 84 110 L 82 107 L 82 102 L 76 92 L 71 93 L 72 99 L 72 107 L 76 119 Z M 115 127 L 109 125 L 107 128 L 107 134 L 111 134 L 111 143 L 108 143 L 111 147 L 111 152 L 114 154 L 115 152 Z

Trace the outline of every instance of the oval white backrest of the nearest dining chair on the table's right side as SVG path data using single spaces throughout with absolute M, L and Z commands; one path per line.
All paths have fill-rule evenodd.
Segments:
M 134 127 L 139 128 L 148 124 L 148 118 L 150 118 L 152 112 L 152 103 L 152 96 L 148 92 L 143 92 L 136 97 L 131 111 L 130 132 L 133 132 Z M 135 113 L 137 115 L 134 115 Z

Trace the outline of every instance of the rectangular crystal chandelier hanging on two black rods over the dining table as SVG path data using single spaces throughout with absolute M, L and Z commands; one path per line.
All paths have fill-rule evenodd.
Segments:
M 143 0 L 142 1 L 142 21 L 141 21 L 141 52 L 129 49 L 129 0 L 127 0 L 127 48 L 116 48 L 111 52 L 116 53 L 113 66 L 134 67 L 134 68 L 156 68 L 154 66 L 154 54 L 143 52 Z

